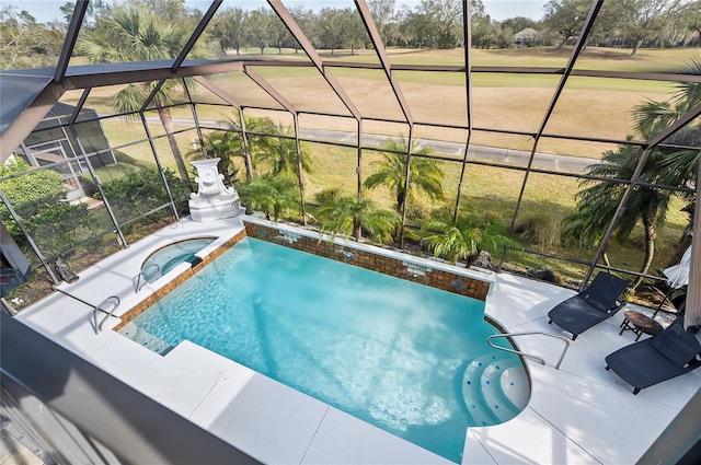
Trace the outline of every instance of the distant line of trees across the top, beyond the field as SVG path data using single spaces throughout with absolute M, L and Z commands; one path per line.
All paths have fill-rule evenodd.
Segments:
M 401 1 L 401 0 L 400 0 Z M 192 30 L 203 12 L 185 5 L 184 0 L 123 0 L 108 3 L 91 0 L 83 30 L 110 35 L 108 19 L 118 5 L 142 8 L 173 25 Z M 453 48 L 463 45 L 462 1 L 422 0 L 414 8 L 398 5 L 398 0 L 369 0 L 368 7 L 380 36 L 388 47 Z M 493 21 L 482 0 L 471 0 L 472 46 L 507 48 L 520 46 L 562 47 L 576 39 L 591 0 L 551 0 L 543 18 L 533 21 L 516 16 Z M 73 14 L 74 3 L 60 10 L 64 18 L 37 23 L 28 12 L 0 3 L 0 68 L 21 69 L 51 66 L 60 53 L 62 38 Z M 319 11 L 296 7 L 290 10 L 311 44 L 318 49 L 350 50 L 370 48 L 360 16 L 352 8 L 323 8 Z M 640 47 L 698 46 L 701 32 L 701 0 L 616 0 L 606 1 L 597 16 L 588 45 L 625 47 L 634 57 Z M 240 54 L 250 47 L 261 54 L 271 48 L 299 50 L 299 44 L 275 13 L 267 8 L 243 10 L 226 7 L 207 27 L 205 40 L 209 55 Z

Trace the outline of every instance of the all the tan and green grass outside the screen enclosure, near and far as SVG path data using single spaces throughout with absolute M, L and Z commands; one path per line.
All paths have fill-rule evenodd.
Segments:
M 278 55 L 271 50 L 263 56 L 257 50 L 248 50 L 251 58 L 307 60 L 303 54 L 292 54 L 285 50 Z M 507 50 L 470 50 L 473 66 L 491 67 L 555 67 L 566 65 L 571 49 L 555 48 L 522 48 Z M 403 50 L 390 49 L 392 63 L 412 65 L 463 65 L 463 50 Z M 333 61 L 370 61 L 377 62 L 371 50 L 359 50 L 357 55 L 349 55 L 345 50 L 336 51 L 333 56 L 322 53 L 329 63 Z M 619 70 L 632 72 L 675 72 L 683 69 L 692 57 L 698 57 L 698 49 L 642 49 L 636 59 L 630 58 L 630 49 L 602 49 L 588 47 L 577 62 L 577 69 Z M 300 111 L 321 111 L 327 113 L 349 114 L 341 100 L 335 95 L 325 80 L 314 68 L 290 67 L 254 67 L 266 81 L 296 108 Z M 365 117 L 404 119 L 397 103 L 393 91 L 387 82 L 384 73 L 378 70 L 360 70 L 352 68 L 329 67 L 329 71 L 336 78 L 350 101 L 360 109 Z M 395 71 L 402 93 L 409 104 L 412 116 L 416 121 L 428 124 L 466 125 L 468 121 L 466 75 L 462 72 L 436 71 Z M 237 102 L 244 106 L 269 105 L 280 107 L 271 96 L 265 94 L 243 73 L 227 73 L 208 77 L 218 86 L 225 89 Z M 533 133 L 543 123 L 542 118 L 550 104 L 560 77 L 545 74 L 507 74 L 479 73 L 472 75 L 472 125 L 475 131 L 471 143 L 509 148 L 529 151 L 533 139 L 528 135 L 506 135 L 485 131 L 483 129 L 503 129 Z M 106 86 L 93 89 L 85 106 L 94 108 L 100 114 L 111 114 L 114 95 L 122 86 Z M 600 137 L 607 139 L 625 139 L 631 133 L 631 109 L 647 100 L 666 100 L 669 97 L 674 84 L 658 81 L 635 81 L 602 78 L 571 78 L 549 119 L 545 135 L 564 135 L 574 137 Z M 220 120 L 226 117 L 238 119 L 238 113 L 231 108 L 207 105 L 206 103 L 221 102 L 203 86 L 194 90 L 197 101 L 198 118 L 200 120 Z M 80 93 L 70 92 L 61 100 L 74 104 Z M 175 101 L 183 100 L 180 91 L 175 92 Z M 174 118 L 192 119 L 192 111 L 187 106 L 171 109 Z M 246 114 L 269 116 L 279 119 L 281 124 L 291 124 L 286 112 L 271 112 L 246 109 Z M 156 118 L 156 113 L 149 113 L 149 118 Z M 355 130 L 355 121 L 323 115 L 313 117 L 301 115 L 304 127 L 323 129 Z M 149 119 L 149 130 L 152 136 L 163 135 L 163 128 L 157 119 Z M 153 121 L 153 123 L 151 123 Z M 145 140 L 146 132 L 140 123 L 126 123 L 122 118 L 102 121 L 105 132 L 113 146 L 120 146 L 137 140 Z M 177 126 L 180 128 L 183 126 Z M 406 133 L 407 126 L 397 123 L 381 123 L 365 120 L 364 129 L 372 133 L 397 136 Z M 417 126 L 416 135 L 421 138 L 464 142 L 466 131 L 438 127 Z M 176 136 L 183 154 L 192 151 L 192 139 L 196 132 L 188 131 Z M 154 142 L 161 163 L 175 171 L 170 147 L 165 138 Z M 306 175 L 306 194 L 308 201 L 313 195 L 330 187 L 341 187 L 349 193 L 355 191 L 357 175 L 357 150 L 333 147 L 321 143 L 307 146 L 313 159 L 314 172 Z M 602 151 L 613 149 L 613 146 L 599 142 L 583 142 L 544 137 L 540 140 L 539 152 L 562 155 L 576 155 L 598 159 Z M 148 142 L 120 149 L 126 155 L 142 163 L 153 163 L 153 155 Z M 375 151 L 363 153 L 363 178 L 367 178 L 375 170 L 372 162 L 380 155 Z M 447 204 L 452 207 L 457 195 L 460 176 L 459 163 L 443 163 L 446 178 L 444 182 Z M 519 171 L 502 170 L 469 165 L 466 171 L 461 193 L 461 208 L 484 217 L 497 219 L 502 228 L 510 224 L 514 208 L 524 179 Z M 578 190 L 576 179 L 561 178 L 547 175 L 531 175 L 524 194 L 524 200 L 516 219 L 516 224 L 529 220 L 552 224 L 559 228 L 561 219 L 575 208 L 574 194 Z M 387 208 L 393 208 L 394 198 L 387 189 L 377 188 L 371 191 L 372 198 Z M 443 205 L 437 205 L 425 198 L 418 198 L 411 206 L 411 216 L 428 214 Z M 667 266 L 667 259 L 676 247 L 687 218 L 679 210 L 680 200 L 675 200 L 668 221 L 658 226 L 657 258 L 650 272 Z M 556 234 L 555 234 L 556 235 Z M 642 261 L 643 235 L 635 231 L 625 244 L 612 243 L 608 255 L 616 267 L 639 269 Z M 590 259 L 594 249 L 573 249 L 562 244 L 529 244 L 531 248 L 543 249 L 554 254 L 577 256 Z M 512 252 L 508 258 L 522 267 L 552 266 L 568 279 L 581 279 L 583 267 L 560 263 L 551 259 Z M 495 257 L 498 259 L 498 255 Z

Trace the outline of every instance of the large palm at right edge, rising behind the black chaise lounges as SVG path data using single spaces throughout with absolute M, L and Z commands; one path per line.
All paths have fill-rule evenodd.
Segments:
M 701 60 L 691 60 L 687 71 L 694 74 L 701 73 Z M 699 103 L 701 103 L 701 84 L 680 84 L 669 101 L 650 101 L 633 108 L 634 131 L 643 140 L 652 140 Z M 700 141 L 701 124 L 697 121 L 696 125 L 677 131 L 665 143 L 699 147 Z M 618 151 L 607 151 L 601 158 L 601 163 L 591 165 L 588 173 L 611 179 L 630 179 L 640 155 L 641 150 L 631 146 L 623 146 Z M 639 181 L 646 184 L 693 188 L 698 166 L 699 150 L 658 146 L 650 154 Z M 576 194 L 577 211 L 564 219 L 566 226 L 563 233 L 577 236 L 588 245 L 594 245 L 602 237 L 613 220 L 627 187 L 618 183 L 591 179 L 585 179 L 581 185 L 589 187 Z M 630 236 L 639 220 L 643 223 L 645 258 L 641 266 L 642 274 L 646 274 L 652 264 L 657 236 L 655 226 L 664 221 L 673 195 L 669 190 L 636 186 L 616 225 L 613 237 L 623 240 Z M 692 196 L 688 197 L 688 201 L 693 201 Z M 605 258 L 605 260 L 608 264 L 608 259 Z M 633 289 L 641 281 L 642 278 L 637 278 Z

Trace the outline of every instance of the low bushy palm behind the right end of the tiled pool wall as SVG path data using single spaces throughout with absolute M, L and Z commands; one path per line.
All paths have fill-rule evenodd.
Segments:
M 495 251 L 503 245 L 520 247 L 510 237 L 494 232 L 493 224 L 487 222 L 480 228 L 478 222 L 470 217 L 453 220 L 450 214 L 428 220 L 422 225 L 422 242 L 434 256 L 446 258 L 453 265 L 464 259 L 466 268 L 476 261 L 484 248 Z

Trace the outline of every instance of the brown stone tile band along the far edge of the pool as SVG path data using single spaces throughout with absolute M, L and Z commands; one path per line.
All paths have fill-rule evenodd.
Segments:
M 452 274 L 422 264 L 414 264 L 406 261 L 406 259 L 402 260 L 359 248 L 353 248 L 346 244 L 331 243 L 324 240 L 320 241 L 318 237 L 312 237 L 307 234 L 295 234 L 295 241 L 290 241 L 289 232 L 284 229 L 245 220 L 243 224 L 245 225 L 246 235 L 250 237 L 285 245 L 286 247 L 308 252 L 336 261 L 345 261 L 395 278 L 406 279 L 420 284 L 430 286 L 481 301 L 486 300 L 490 292 L 490 282 L 468 276 Z

